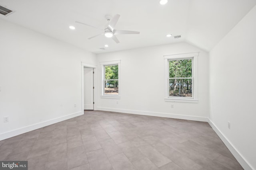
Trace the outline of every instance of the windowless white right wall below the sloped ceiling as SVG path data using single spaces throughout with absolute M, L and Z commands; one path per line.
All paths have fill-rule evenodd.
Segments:
M 210 51 L 210 121 L 245 169 L 256 169 L 255 21 L 256 7 Z

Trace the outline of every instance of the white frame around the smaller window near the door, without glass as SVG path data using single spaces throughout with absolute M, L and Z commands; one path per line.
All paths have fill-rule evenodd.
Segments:
M 118 65 L 118 95 L 109 95 L 109 94 L 104 94 L 104 88 L 105 88 L 105 66 L 111 66 L 111 65 Z M 120 66 L 121 66 L 121 60 L 116 60 L 116 61 L 105 61 L 105 62 L 100 62 L 101 66 L 101 86 L 102 86 L 102 92 L 101 92 L 101 98 L 112 98 L 112 99 L 120 99 Z

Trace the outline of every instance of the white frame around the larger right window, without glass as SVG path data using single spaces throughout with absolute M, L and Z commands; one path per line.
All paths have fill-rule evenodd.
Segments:
M 192 59 L 192 98 L 169 96 L 169 61 Z M 198 52 L 164 55 L 164 101 L 198 103 Z

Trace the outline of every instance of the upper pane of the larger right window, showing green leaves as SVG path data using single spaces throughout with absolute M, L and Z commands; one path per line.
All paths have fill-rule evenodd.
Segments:
M 192 77 L 192 59 L 169 61 L 169 77 Z

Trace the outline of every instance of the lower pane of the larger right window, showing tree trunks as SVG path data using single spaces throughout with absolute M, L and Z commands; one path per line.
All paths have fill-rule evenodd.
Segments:
M 192 97 L 192 79 L 170 79 L 169 97 Z

